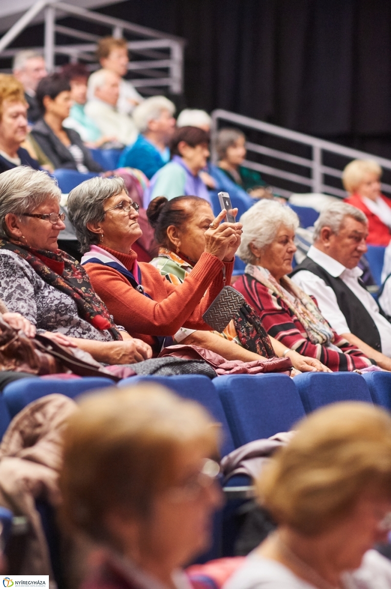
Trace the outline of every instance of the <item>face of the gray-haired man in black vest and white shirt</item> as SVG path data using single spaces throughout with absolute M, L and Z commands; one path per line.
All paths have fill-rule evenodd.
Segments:
M 367 224 L 347 215 L 339 233 L 331 233 L 330 230 L 327 232 L 325 229 L 325 227 L 322 229 L 325 252 L 345 268 L 355 268 L 361 256 L 367 251 L 365 243 L 368 236 Z

